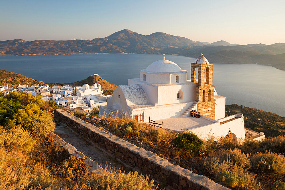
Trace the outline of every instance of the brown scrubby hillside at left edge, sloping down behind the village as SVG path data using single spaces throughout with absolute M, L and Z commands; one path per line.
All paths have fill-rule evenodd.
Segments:
M 0 70 L 0 86 L 2 85 L 17 88 L 19 85 L 46 85 L 46 83 L 11 71 Z

